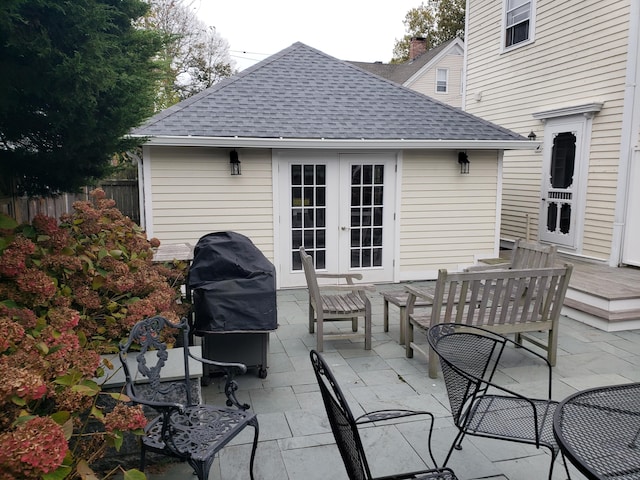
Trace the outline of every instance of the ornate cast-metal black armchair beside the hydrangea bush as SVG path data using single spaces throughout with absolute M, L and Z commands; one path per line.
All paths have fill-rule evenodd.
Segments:
M 164 329 L 180 329 L 185 348 L 182 359 L 184 363 L 180 366 L 183 370 L 177 374 L 180 378 L 161 383 L 160 373 L 166 369 L 169 356 L 167 345 L 162 341 Z M 186 460 L 198 479 L 206 480 L 216 453 L 246 426 L 251 425 L 254 437 L 249 472 L 253 479 L 253 463 L 258 446 L 258 419 L 254 413 L 247 411 L 249 405 L 238 402 L 235 396 L 238 386 L 233 380 L 234 373 L 245 373 L 247 367 L 241 363 L 215 362 L 192 355 L 186 347 L 189 345 L 188 337 L 187 319 L 183 318 L 179 324 L 173 324 L 164 317 L 155 316 L 134 325 L 128 340 L 120 344 L 120 361 L 126 378 L 127 395 L 134 403 L 160 412 L 145 427 L 140 452 L 141 470 L 144 471 L 145 454 L 149 450 Z M 226 372 L 226 403 L 227 407 L 235 408 L 203 405 L 194 401 L 189 378 L 190 360 L 212 365 Z M 151 361 L 155 364 L 148 366 L 147 362 Z M 132 376 L 130 368 L 135 368 L 135 364 L 137 372 Z

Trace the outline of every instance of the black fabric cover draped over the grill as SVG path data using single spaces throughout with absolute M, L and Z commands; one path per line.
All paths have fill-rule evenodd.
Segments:
M 196 335 L 277 328 L 275 267 L 244 235 L 215 232 L 198 240 L 188 285 Z

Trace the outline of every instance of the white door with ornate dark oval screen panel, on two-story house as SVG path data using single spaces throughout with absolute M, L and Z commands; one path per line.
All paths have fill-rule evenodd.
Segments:
M 550 119 L 545 125 L 540 208 L 540 240 L 578 247 L 583 210 L 581 169 L 584 122 Z

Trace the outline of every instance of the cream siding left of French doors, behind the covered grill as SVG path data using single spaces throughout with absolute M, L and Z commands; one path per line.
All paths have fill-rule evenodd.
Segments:
M 273 259 L 270 150 L 238 150 L 240 176 L 230 174 L 228 149 L 150 151 L 155 237 L 195 245 L 207 233 L 231 230 L 249 237 Z

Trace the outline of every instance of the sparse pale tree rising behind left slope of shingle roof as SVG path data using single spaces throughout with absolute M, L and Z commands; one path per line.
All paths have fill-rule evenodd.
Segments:
M 147 0 L 145 28 L 161 32 L 163 78 L 156 109 L 184 100 L 235 73 L 229 45 L 196 15 L 193 0 Z

